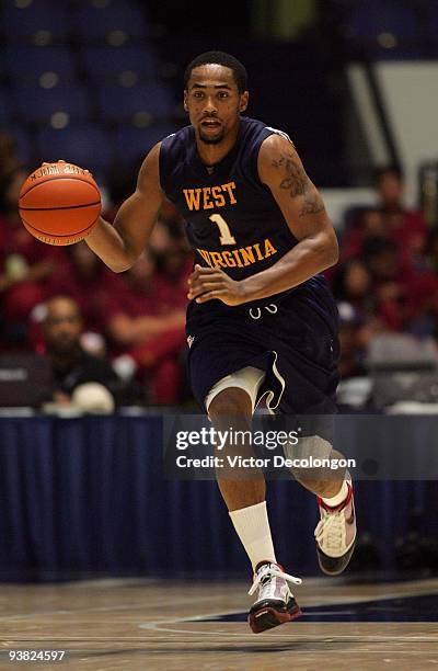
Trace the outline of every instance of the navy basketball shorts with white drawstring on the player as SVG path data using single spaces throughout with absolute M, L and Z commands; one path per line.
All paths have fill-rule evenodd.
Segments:
M 246 366 L 265 372 L 258 398 L 285 414 L 334 414 L 338 383 L 338 317 L 318 275 L 288 294 L 255 305 L 218 300 L 187 309 L 188 372 L 203 410 L 210 389 Z

